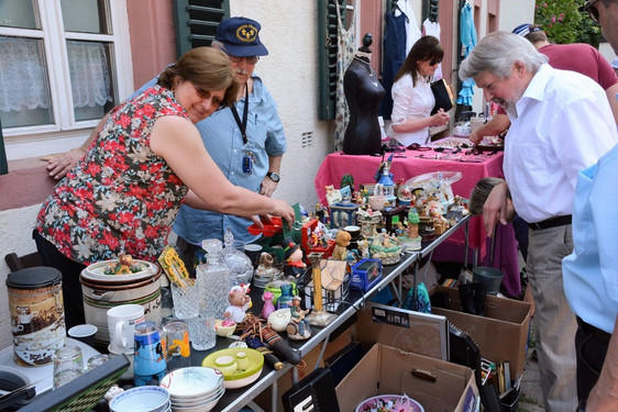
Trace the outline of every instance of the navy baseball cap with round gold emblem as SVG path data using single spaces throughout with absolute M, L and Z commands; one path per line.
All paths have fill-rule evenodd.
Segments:
M 232 56 L 266 56 L 268 51 L 260 42 L 260 29 L 262 26 L 255 20 L 230 18 L 219 24 L 214 40 L 223 43 Z

